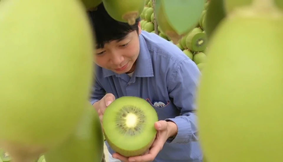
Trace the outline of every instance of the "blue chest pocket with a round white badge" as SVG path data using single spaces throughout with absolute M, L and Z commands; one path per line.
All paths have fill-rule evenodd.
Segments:
M 146 101 L 155 109 L 158 120 L 175 118 L 176 116 L 180 115 L 180 111 L 171 101 L 155 101 L 153 103 L 150 101 L 150 99 L 146 99 Z

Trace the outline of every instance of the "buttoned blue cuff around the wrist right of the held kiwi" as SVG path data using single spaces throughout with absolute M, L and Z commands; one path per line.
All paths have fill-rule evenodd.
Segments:
M 167 143 L 188 143 L 190 136 L 192 136 L 192 130 L 188 122 L 183 118 L 170 118 L 165 121 L 175 122 L 178 128 L 176 137 L 173 140 L 167 140 Z

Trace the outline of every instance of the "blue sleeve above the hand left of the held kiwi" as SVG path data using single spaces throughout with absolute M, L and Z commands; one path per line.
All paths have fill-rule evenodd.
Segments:
M 89 102 L 93 104 L 94 102 L 97 102 L 100 99 L 102 99 L 105 94 L 106 94 L 106 91 L 102 88 L 96 76 L 94 76 L 93 86 L 91 88 L 91 95 L 89 98 Z

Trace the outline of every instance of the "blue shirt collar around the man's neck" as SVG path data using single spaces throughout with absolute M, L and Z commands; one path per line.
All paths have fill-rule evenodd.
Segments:
M 111 70 L 102 68 L 104 78 L 108 76 L 117 76 L 121 77 L 121 74 L 117 74 Z M 146 41 L 142 34 L 139 35 L 139 56 L 136 59 L 136 69 L 134 72 L 133 77 L 152 77 L 153 75 L 153 68 L 152 68 L 152 61 L 149 54 L 149 50 L 147 48 Z

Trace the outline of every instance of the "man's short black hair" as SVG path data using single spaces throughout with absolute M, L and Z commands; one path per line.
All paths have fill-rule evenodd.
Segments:
M 116 21 L 107 13 L 103 3 L 99 4 L 96 10 L 87 12 L 95 33 L 96 48 L 103 48 L 104 43 L 112 40 L 123 39 L 132 31 L 139 31 L 140 18 L 136 19 L 136 23 L 133 25 Z

